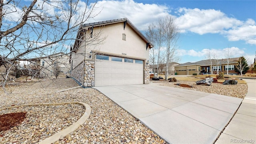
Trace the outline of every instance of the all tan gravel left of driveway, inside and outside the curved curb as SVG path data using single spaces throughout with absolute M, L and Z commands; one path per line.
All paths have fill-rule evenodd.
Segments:
M 158 135 L 154 134 L 154 132 L 152 132 L 150 129 L 146 128 L 146 126 L 140 123 L 140 121 L 136 120 L 136 118 L 134 118 L 128 112 L 120 108 L 109 98 L 93 88 L 76 88 L 60 93 L 55 93 L 58 90 L 64 90 L 75 86 L 78 86 L 78 84 L 76 84 L 76 82 L 74 82 L 74 80 L 72 80 L 71 78 L 60 78 L 54 81 L 43 80 L 40 83 L 29 82 L 20 84 L 18 86 L 6 86 L 6 90 L 8 90 L 9 92 L 12 91 L 12 93 L 6 95 L 4 94 L 4 91 L 0 89 L 0 108 L 12 105 L 36 103 L 85 102 L 89 104 L 92 112 L 88 120 L 76 131 L 70 133 L 62 140 L 59 140 L 58 142 L 56 142 L 56 144 L 166 143 L 164 140 L 159 138 Z M 22 137 L 22 139 L 20 138 L 20 135 L 18 135 L 18 138 L 20 138 L 20 140 L 17 141 L 15 138 L 11 140 L 10 138 L 8 138 L 8 142 L 10 142 L 10 144 L 18 144 L 22 142 L 24 143 L 24 141 L 26 140 L 27 143 L 31 143 L 31 141 L 32 143 L 39 141 L 42 137 L 42 134 L 45 134 L 45 132 L 46 134 L 44 136 L 49 135 L 47 135 L 47 130 L 50 130 L 51 124 L 56 124 L 58 125 L 58 127 L 62 127 L 63 124 L 66 124 L 67 118 L 71 118 L 69 120 L 72 120 L 72 118 L 78 119 L 80 115 L 84 112 L 84 110 L 81 110 L 80 106 L 71 107 L 66 106 L 66 108 L 56 108 L 54 111 L 58 113 L 56 114 L 56 116 L 53 116 L 52 110 L 47 110 L 46 112 L 41 113 L 41 115 L 49 115 L 50 118 L 48 118 L 48 121 L 46 120 L 42 122 L 43 124 L 41 124 L 41 128 L 40 123 L 36 125 L 39 127 L 37 130 L 33 128 L 37 133 L 40 133 L 39 130 L 42 131 L 42 128 L 44 128 L 40 136 L 38 135 L 34 137 L 30 137 L 32 134 L 31 132 L 24 132 L 25 129 L 30 128 L 30 123 L 32 123 L 31 120 L 28 119 L 29 116 L 27 114 L 27 118 L 22 123 L 24 124 L 23 126 L 17 126 L 17 129 L 13 131 L 7 130 L 5 132 L 5 134 L 12 136 L 14 136 L 13 133 L 16 133 L 17 135 L 23 132 L 25 137 Z M 34 106 L 33 108 L 28 107 L 28 109 L 30 109 L 32 113 L 40 113 L 40 111 L 43 112 L 46 108 L 45 106 Z M 68 115 L 64 118 L 61 118 L 63 112 L 60 112 L 59 109 L 68 109 L 69 112 L 66 112 L 66 114 Z M 9 110 L 8 112 L 14 112 L 14 110 Z M 0 113 L 4 114 L 6 112 L 0 111 Z M 76 114 L 76 116 L 72 115 L 72 113 Z M 58 116 L 60 116 L 60 118 L 58 118 Z M 52 130 L 54 132 L 57 132 L 58 128 Z M 27 138 L 26 135 L 29 135 L 29 137 Z M 2 141 L 3 138 L 4 137 L 0 137 L 0 141 Z M 7 140 L 7 137 L 5 140 Z

